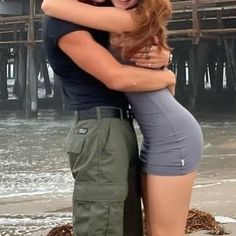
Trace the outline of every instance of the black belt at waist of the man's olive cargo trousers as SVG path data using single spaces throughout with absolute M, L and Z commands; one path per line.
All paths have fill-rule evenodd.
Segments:
M 76 111 L 78 120 L 88 119 L 102 119 L 102 118 L 118 118 L 118 119 L 131 119 L 130 110 L 124 110 L 119 107 L 93 107 L 87 110 Z

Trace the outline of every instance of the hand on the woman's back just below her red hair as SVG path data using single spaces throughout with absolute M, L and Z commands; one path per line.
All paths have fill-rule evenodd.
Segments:
M 136 66 L 161 69 L 167 67 L 170 60 L 171 52 L 165 48 L 159 48 L 157 45 L 150 47 L 144 47 L 137 53 L 135 53 L 130 61 Z

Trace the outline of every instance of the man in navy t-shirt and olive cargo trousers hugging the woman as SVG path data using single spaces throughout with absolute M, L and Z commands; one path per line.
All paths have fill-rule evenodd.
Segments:
M 105 49 L 105 32 L 50 17 L 43 31 L 67 107 L 76 111 L 66 145 L 75 179 L 74 235 L 141 236 L 137 143 L 128 102 L 118 91 L 148 91 L 154 84 L 162 89 L 175 78 L 168 71 L 164 80 L 158 71 L 121 65 Z

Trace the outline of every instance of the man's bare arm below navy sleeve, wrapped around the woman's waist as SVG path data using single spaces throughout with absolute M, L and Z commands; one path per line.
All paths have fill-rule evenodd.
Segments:
M 120 64 L 86 31 L 75 31 L 61 37 L 58 46 L 80 68 L 113 90 L 153 91 L 176 82 L 174 73 L 167 69 L 154 71 Z

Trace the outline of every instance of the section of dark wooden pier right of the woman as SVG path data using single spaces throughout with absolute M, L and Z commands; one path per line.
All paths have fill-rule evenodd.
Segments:
M 236 1 L 172 2 L 177 98 L 193 111 L 209 100 L 219 102 L 223 94 L 235 105 Z

